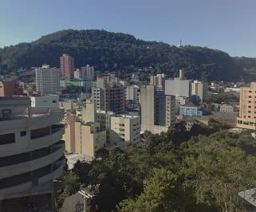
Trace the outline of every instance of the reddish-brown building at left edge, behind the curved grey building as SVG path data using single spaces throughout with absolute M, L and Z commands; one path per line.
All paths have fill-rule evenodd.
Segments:
M 0 96 L 14 96 L 22 94 L 23 88 L 21 88 L 17 82 L 0 80 Z

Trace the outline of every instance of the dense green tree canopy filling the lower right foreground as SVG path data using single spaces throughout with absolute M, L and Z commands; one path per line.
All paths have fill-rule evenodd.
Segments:
M 100 185 L 92 202 L 99 211 L 246 210 L 238 192 L 256 186 L 255 140 L 219 124 L 196 125 L 191 132 L 183 124 L 160 135 L 146 132 L 142 147 L 113 148 L 102 160 L 79 162 L 73 181 Z M 69 180 L 65 192 L 74 187 Z

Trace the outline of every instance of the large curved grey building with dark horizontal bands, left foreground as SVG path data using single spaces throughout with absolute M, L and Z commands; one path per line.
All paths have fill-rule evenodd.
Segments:
M 29 104 L 25 96 L 0 97 L 0 210 L 7 199 L 51 194 L 65 167 L 63 110 Z

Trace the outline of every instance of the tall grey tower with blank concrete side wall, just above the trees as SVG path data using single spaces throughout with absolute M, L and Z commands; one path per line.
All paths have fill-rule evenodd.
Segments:
M 175 124 L 175 96 L 165 95 L 154 85 L 140 88 L 141 130 L 167 132 Z

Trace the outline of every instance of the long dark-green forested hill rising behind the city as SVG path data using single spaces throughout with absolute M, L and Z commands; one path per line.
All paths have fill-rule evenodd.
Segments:
M 67 29 L 31 43 L 5 47 L 0 49 L 0 67 L 13 70 L 45 63 L 59 66 L 62 53 L 72 55 L 76 67 L 91 64 L 100 71 L 118 71 L 152 66 L 170 76 L 185 69 L 186 77 L 191 79 L 240 80 L 248 78 L 249 74 L 254 75 L 256 67 L 254 58 L 234 58 L 222 51 L 198 46 L 178 48 L 97 29 Z

